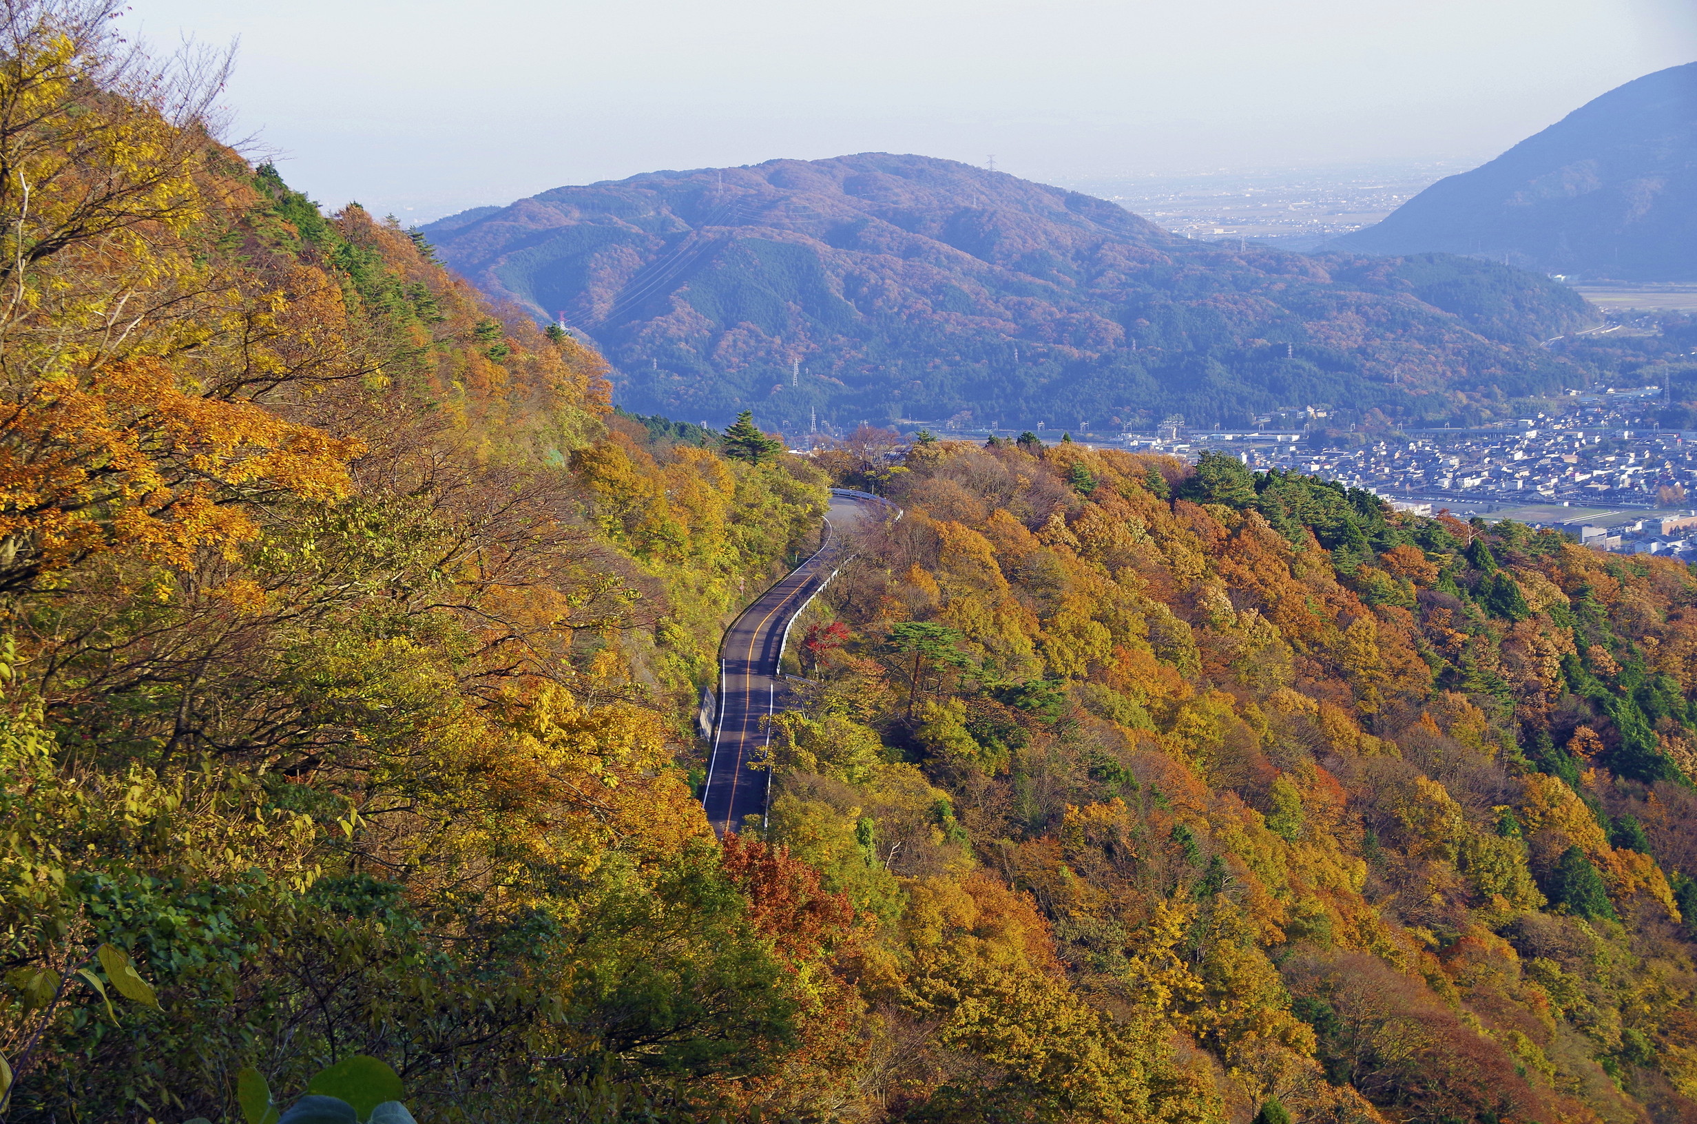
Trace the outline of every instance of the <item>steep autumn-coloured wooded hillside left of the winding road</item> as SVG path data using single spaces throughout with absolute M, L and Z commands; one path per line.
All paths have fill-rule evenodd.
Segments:
M 674 756 L 821 474 L 611 416 L 599 357 L 210 143 L 110 5 L 8 12 L 7 1119 L 238 1121 L 348 1054 L 426 1121 L 735 1107 L 809 993 Z

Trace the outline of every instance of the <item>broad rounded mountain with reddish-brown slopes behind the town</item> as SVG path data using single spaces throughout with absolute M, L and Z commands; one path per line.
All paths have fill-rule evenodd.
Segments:
M 1329 402 L 1410 416 L 1560 385 L 1590 323 L 1504 267 L 1198 243 L 927 156 L 655 171 L 433 222 L 443 258 L 613 360 L 618 401 L 721 423 L 1112 426 Z

